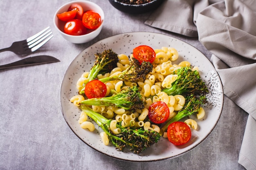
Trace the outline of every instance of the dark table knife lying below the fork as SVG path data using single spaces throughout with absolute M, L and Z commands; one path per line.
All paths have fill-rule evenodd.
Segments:
M 4 64 L 4 65 L 0 66 L 0 70 L 6 69 L 6 68 L 13 68 L 13 67 L 20 67 L 20 66 L 31 66 L 31 65 L 36 65 L 36 64 L 46 64 L 46 63 L 59 62 L 59 61 L 60 60 L 56 59 L 55 57 L 49 56 L 49 55 L 37 55 L 34 57 L 24 58 L 17 62 Z

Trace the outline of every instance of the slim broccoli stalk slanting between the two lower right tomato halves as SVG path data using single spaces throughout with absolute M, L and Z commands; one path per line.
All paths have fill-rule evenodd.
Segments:
M 190 117 L 194 113 L 197 113 L 200 110 L 202 104 L 206 104 L 206 103 L 207 103 L 207 97 L 205 95 L 201 95 L 197 97 L 192 94 L 187 96 L 184 107 L 177 113 L 177 115 L 175 115 L 166 124 L 164 124 L 164 126 L 160 128 L 159 134 L 163 135 L 171 123 L 175 121 L 179 121 L 184 117 Z

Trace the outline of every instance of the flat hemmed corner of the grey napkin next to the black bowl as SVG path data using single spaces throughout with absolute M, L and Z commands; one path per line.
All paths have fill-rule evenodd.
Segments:
M 220 0 L 163 0 L 145 24 L 189 37 L 198 37 L 194 23 L 198 13 L 218 1 Z

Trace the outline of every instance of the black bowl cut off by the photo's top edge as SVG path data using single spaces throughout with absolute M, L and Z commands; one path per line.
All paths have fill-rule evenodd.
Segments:
M 146 13 L 149 11 L 153 11 L 154 9 L 157 9 L 157 7 L 159 7 L 159 5 L 164 0 L 153 0 L 146 4 L 139 4 L 139 5 L 125 4 L 117 0 L 108 0 L 108 1 L 110 2 L 110 4 L 112 4 L 113 7 L 115 7 L 119 11 L 123 11 L 125 13 L 140 14 L 140 13 Z

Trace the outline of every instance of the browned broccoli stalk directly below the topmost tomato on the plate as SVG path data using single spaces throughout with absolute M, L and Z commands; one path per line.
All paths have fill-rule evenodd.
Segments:
M 99 79 L 101 82 L 105 83 L 112 80 L 121 80 L 127 82 L 134 82 L 136 80 L 143 80 L 146 75 L 153 70 L 153 65 L 150 62 L 142 62 L 141 64 L 135 58 L 130 59 L 130 66 L 126 68 L 121 74 L 113 77 L 105 77 Z

